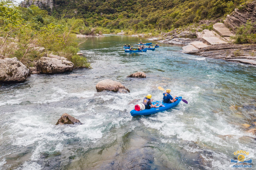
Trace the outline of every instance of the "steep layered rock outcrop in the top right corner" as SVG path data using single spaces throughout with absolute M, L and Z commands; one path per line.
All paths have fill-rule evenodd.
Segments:
M 254 23 L 254 28 L 256 30 L 256 1 L 246 4 L 241 7 L 241 9 L 236 8 L 231 15 L 227 16 L 224 20 L 224 24 L 235 31 L 236 27 L 245 25 L 247 20 L 251 20 L 252 23 Z

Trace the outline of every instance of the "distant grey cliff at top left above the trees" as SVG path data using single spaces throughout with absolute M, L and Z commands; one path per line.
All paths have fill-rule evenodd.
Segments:
M 36 5 L 41 9 L 45 9 L 45 8 L 53 8 L 53 0 L 25 0 L 22 1 L 20 6 L 24 7 L 24 8 L 28 8 L 31 5 Z

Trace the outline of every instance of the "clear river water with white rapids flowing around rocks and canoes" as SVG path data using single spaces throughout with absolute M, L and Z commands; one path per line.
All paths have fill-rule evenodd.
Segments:
M 88 38 L 81 51 L 92 69 L 0 86 L 0 169 L 228 169 L 236 150 L 255 154 L 255 136 L 246 132 L 256 122 L 255 67 L 166 44 L 124 53 L 124 43 L 139 40 Z M 126 77 L 136 71 L 147 78 Z M 97 93 L 95 85 L 106 78 L 131 92 Z M 130 101 L 148 93 L 162 99 L 157 86 L 188 105 L 132 117 Z M 63 113 L 84 124 L 55 126 Z

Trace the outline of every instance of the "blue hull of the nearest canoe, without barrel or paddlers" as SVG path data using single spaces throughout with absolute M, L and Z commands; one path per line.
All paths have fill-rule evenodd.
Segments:
M 179 97 L 179 98 L 182 99 L 182 97 Z M 157 112 L 163 112 L 165 110 L 169 110 L 172 107 L 177 106 L 181 100 L 178 98 L 176 98 L 176 99 L 177 99 L 177 101 L 175 101 L 174 103 L 162 103 L 165 107 L 162 106 L 162 107 L 157 107 L 157 108 L 145 109 L 142 111 L 136 111 L 133 109 L 130 113 L 132 116 L 138 116 L 138 115 L 152 115 Z M 159 106 L 159 104 L 157 104 L 156 106 Z

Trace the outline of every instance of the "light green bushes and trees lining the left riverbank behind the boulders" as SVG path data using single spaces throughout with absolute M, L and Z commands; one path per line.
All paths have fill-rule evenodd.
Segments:
M 20 8 L 12 1 L 0 1 L 0 58 L 17 57 L 27 66 L 45 53 L 68 58 L 75 67 L 90 67 L 85 57 L 78 56 L 75 33 L 86 26 L 75 18 L 49 16 L 36 6 Z M 45 48 L 45 49 L 44 49 Z

